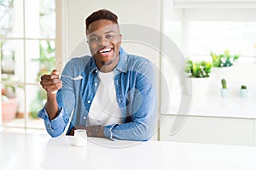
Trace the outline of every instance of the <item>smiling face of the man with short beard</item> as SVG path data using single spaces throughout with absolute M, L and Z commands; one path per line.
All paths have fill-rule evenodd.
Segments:
M 119 60 L 121 35 L 119 26 L 111 20 L 96 20 L 86 31 L 90 53 L 96 59 L 99 69 L 102 66 L 114 68 Z

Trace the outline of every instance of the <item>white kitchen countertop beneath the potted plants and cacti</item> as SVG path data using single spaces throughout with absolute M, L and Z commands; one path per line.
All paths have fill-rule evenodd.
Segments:
M 190 109 L 186 113 L 178 113 L 181 116 L 213 116 L 230 118 L 256 118 L 256 99 L 230 96 L 207 96 L 201 99 L 192 99 Z M 177 115 L 178 108 L 171 108 L 168 113 L 162 115 Z

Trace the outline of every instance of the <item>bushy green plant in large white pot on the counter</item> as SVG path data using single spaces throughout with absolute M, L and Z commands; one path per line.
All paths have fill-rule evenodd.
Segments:
M 207 94 L 211 71 L 212 62 L 187 60 L 185 73 L 189 95 L 202 97 Z

